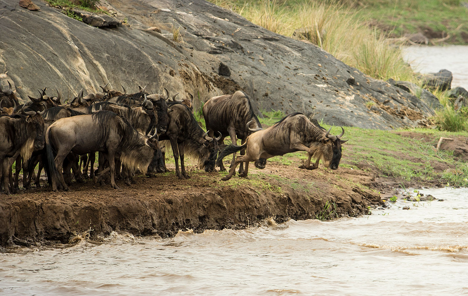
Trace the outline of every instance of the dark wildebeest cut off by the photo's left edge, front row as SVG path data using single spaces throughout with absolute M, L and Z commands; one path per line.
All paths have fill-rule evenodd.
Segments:
M 32 152 L 44 148 L 44 119 L 35 111 L 21 115 L 0 116 L 0 180 L 4 179 L 5 192 L 9 194 L 7 176 L 11 163 L 7 158 L 21 155 L 27 161 Z M 10 167 L 8 167 L 10 165 Z

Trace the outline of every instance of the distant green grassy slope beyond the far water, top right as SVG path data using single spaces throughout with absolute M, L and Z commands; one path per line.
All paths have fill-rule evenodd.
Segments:
M 356 2 L 356 1 L 353 1 Z M 468 8 L 460 0 L 364 0 L 357 5 L 357 15 L 374 20 L 377 28 L 393 37 L 430 30 L 450 35 L 445 43 L 468 43 Z M 462 37 L 465 32 L 465 38 Z M 442 36 L 440 36 L 442 37 Z M 440 38 L 439 37 L 439 38 Z M 436 37 L 437 38 L 437 37 Z

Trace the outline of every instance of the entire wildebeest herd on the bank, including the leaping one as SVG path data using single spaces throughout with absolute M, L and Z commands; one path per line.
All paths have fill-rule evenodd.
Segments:
M 9 84 L 9 82 L 8 82 Z M 167 140 L 176 163 L 176 176 L 190 178 L 185 170 L 184 155 L 190 154 L 206 172 L 219 166 L 225 171 L 223 158 L 233 154 L 230 179 L 240 164 L 239 176 L 246 177 L 249 162 L 264 168 L 266 159 L 289 152 L 306 151 L 305 169 L 315 169 L 322 159 L 325 166 L 337 169 L 341 159 L 343 132 L 330 135 L 319 123 L 302 113 L 292 113 L 273 126 L 263 130 L 254 113 L 249 97 L 242 91 L 212 97 L 203 106 L 206 129 L 203 130 L 193 115 L 193 95 L 177 100 L 179 93 L 149 94 L 146 87 L 126 94 L 110 89 L 78 96 L 62 103 L 56 96 L 39 90 L 39 98 L 20 104 L 9 84 L 0 88 L 0 190 L 7 194 L 19 189 L 19 172 L 23 171 L 23 188 L 35 184 L 44 168 L 52 190 L 68 190 L 73 180 L 82 182 L 110 182 L 118 188 L 117 180 L 129 185 L 137 172 L 153 174 L 167 172 L 165 148 Z M 229 136 L 232 145 L 225 145 Z M 237 146 L 241 139 L 241 146 Z M 241 156 L 235 157 L 240 151 Z M 95 155 L 98 166 L 95 170 Z M 316 159 L 310 166 L 310 160 Z M 180 159 L 180 167 L 179 167 Z M 15 174 L 12 166 L 15 164 Z M 35 168 L 38 166 L 38 172 Z M 244 168 L 245 166 L 245 168 Z M 89 169 L 89 175 L 88 175 Z

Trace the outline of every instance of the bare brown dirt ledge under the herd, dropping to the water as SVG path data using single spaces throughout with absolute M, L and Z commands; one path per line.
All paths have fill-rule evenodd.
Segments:
M 256 226 L 267 217 L 277 222 L 355 217 L 380 203 L 377 192 L 343 177 L 334 178 L 330 170 L 286 167 L 271 165 L 268 173 L 273 175 L 252 172 L 249 179 L 235 176 L 231 183 L 220 181 L 219 173 L 196 170 L 190 180 L 168 173 L 135 178 L 138 184 L 131 187 L 117 183 L 122 190 L 88 182 L 73 183 L 70 192 L 37 188 L 0 195 L 0 245 L 67 243 L 74 231 L 89 229 L 91 237 L 125 231 L 167 238 L 179 229 L 202 232 Z M 280 170 L 283 176 L 274 174 Z M 295 173 L 294 181 L 285 178 L 287 171 Z M 289 181 L 290 186 L 285 184 Z M 327 207 L 327 202 L 333 202 L 336 209 Z

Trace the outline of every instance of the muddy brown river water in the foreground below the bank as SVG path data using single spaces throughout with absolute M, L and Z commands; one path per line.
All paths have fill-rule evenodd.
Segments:
M 468 189 L 421 192 L 444 201 L 4 253 L 0 295 L 468 295 Z

